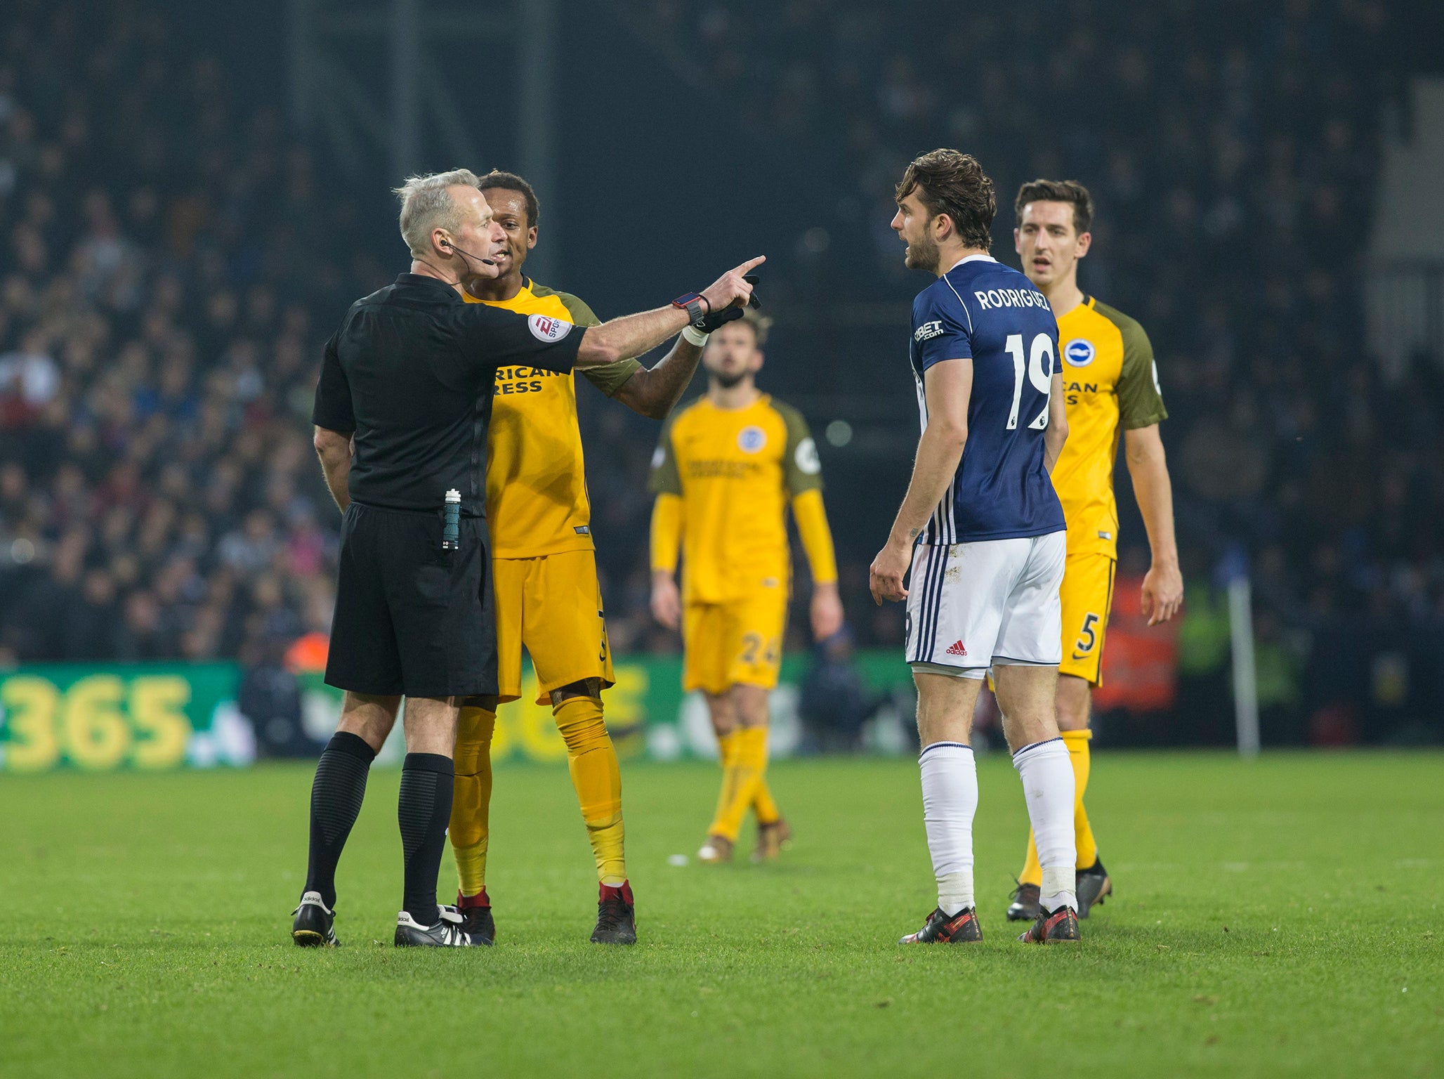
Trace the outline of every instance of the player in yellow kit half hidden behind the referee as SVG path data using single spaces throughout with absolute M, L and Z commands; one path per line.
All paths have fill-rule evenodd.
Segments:
M 549 319 L 598 325 L 599 319 L 580 299 L 539 285 L 523 273 L 540 224 L 540 205 L 531 185 L 510 172 L 491 172 L 478 186 L 505 233 L 505 243 L 492 256 L 498 276 L 469 283 L 466 299 L 530 315 L 542 332 Z M 684 296 L 677 303 L 687 306 L 689 313 L 696 305 L 696 316 L 706 313 L 706 302 L 696 296 Z M 716 318 L 728 313 L 719 312 Z M 741 311 L 735 315 L 741 316 Z M 586 378 L 634 412 L 661 419 L 696 371 L 702 355 L 699 341 L 705 337 L 689 326 L 651 370 L 627 360 Z M 602 718 L 602 689 L 612 685 L 612 660 L 596 582 L 576 383 L 570 374 L 531 367 L 497 371 L 487 439 L 487 507 L 500 701 L 516 701 L 521 695 L 524 646 L 537 676 L 537 703 L 552 705 L 566 742 L 572 786 L 596 859 L 601 894 L 592 942 L 635 943 L 621 771 Z M 461 709 L 451 818 L 461 884 L 456 904 L 465 929 L 488 945 L 495 940 L 487 894 L 495 703 L 471 698 Z

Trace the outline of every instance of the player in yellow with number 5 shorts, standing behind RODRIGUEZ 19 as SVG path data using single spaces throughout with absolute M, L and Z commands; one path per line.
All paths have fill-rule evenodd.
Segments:
M 1152 566 L 1144 578 L 1142 611 L 1149 625 L 1174 617 L 1183 602 L 1183 575 L 1174 542 L 1173 488 L 1158 438 L 1168 416 L 1158 389 L 1158 368 L 1148 335 L 1128 315 L 1079 289 L 1079 260 L 1092 243 L 1093 199 L 1073 181 L 1034 181 L 1018 189 L 1014 246 L 1022 272 L 1048 298 L 1058 321 L 1069 441 L 1053 467 L 1053 485 L 1067 519 L 1063 571 L 1063 664 L 1058 667 L 1058 729 L 1074 776 L 1077 913 L 1113 890 L 1097 841 L 1083 809 L 1089 779 L 1089 729 L 1093 686 L 1102 682 L 1103 634 L 1113 601 L 1118 559 L 1118 504 L 1113 456 L 1123 430 L 1123 459 L 1148 530 Z M 1043 871 L 1028 833 L 1028 854 L 1018 877 L 1011 920 L 1038 913 Z

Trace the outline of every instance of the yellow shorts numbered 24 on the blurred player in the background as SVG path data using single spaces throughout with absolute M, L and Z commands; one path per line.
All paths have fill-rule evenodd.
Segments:
M 728 686 L 773 689 L 783 666 L 787 591 L 768 589 L 728 604 L 687 604 L 682 688 L 722 693 Z

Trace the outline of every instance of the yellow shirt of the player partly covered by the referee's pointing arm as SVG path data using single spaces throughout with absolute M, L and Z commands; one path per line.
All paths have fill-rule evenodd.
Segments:
M 481 300 L 465 296 L 471 303 Z M 549 315 L 578 326 L 601 319 L 576 296 L 529 277 L 508 300 L 487 300 L 521 315 Z M 611 397 L 641 367 L 624 360 L 582 374 Z M 492 558 L 540 558 L 592 549 L 576 378 L 534 367 L 503 367 L 491 399 L 487 435 L 487 520 Z

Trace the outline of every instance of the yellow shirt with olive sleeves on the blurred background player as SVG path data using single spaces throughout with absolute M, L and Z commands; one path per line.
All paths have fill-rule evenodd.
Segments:
M 822 490 L 822 462 L 797 409 L 700 397 L 667 420 L 647 487 L 682 498 L 683 599 L 722 604 L 788 584 L 787 504 Z

